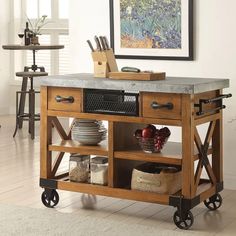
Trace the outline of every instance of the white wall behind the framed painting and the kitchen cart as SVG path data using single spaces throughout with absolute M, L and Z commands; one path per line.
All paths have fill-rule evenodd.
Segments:
M 118 66 L 166 71 L 168 76 L 230 78 L 236 91 L 236 1 L 194 0 L 195 60 L 118 60 Z M 226 3 L 227 2 L 227 3 Z M 93 64 L 87 39 L 109 36 L 109 0 L 70 0 L 72 72 L 92 72 Z M 224 175 L 225 186 L 236 189 L 236 93 L 225 101 Z

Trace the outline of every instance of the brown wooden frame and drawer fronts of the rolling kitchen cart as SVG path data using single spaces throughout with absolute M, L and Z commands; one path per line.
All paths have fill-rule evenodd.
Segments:
M 194 103 L 199 100 L 193 94 L 147 93 L 140 92 L 139 117 L 116 116 L 105 114 L 90 114 L 82 112 L 83 90 L 73 88 L 47 89 L 41 91 L 41 177 L 57 180 L 58 189 L 75 192 L 98 194 L 104 196 L 170 204 L 170 195 L 155 194 L 131 190 L 132 170 L 135 166 L 145 163 L 164 163 L 179 165 L 182 168 L 182 189 L 175 195 L 193 200 L 200 197 L 201 201 L 214 195 L 217 183 L 222 177 L 222 113 L 208 114 L 201 117 L 195 115 Z M 75 95 L 76 107 L 69 104 L 56 104 L 56 95 Z M 204 98 L 215 97 L 213 91 L 204 93 Z M 171 110 L 166 108 L 154 110 L 150 104 L 156 101 L 160 104 L 173 103 Z M 58 117 L 73 117 L 108 121 L 108 142 L 97 146 L 80 145 L 71 140 L 71 129 L 66 132 Z M 210 122 L 204 142 L 201 141 L 197 126 Z M 54 125 L 61 141 L 52 143 L 51 123 Z M 144 153 L 133 137 L 136 129 L 142 129 L 147 124 L 180 126 L 182 143 L 168 142 L 161 153 Z M 46 140 L 46 141 L 45 141 Z M 210 143 L 212 140 L 212 147 Z M 195 144 L 194 144 L 195 143 Z M 59 152 L 56 160 L 51 163 L 51 152 Z M 96 186 L 68 181 L 68 173 L 56 176 L 64 153 L 80 153 L 87 155 L 108 156 L 108 186 Z M 213 155 L 212 167 L 208 163 L 208 155 Z M 198 161 L 196 172 L 194 162 Z M 206 168 L 209 180 L 201 179 L 203 166 Z

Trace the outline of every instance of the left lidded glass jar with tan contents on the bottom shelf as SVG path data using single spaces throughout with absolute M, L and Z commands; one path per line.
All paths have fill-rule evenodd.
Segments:
M 89 182 L 89 155 L 71 154 L 69 164 L 70 181 Z

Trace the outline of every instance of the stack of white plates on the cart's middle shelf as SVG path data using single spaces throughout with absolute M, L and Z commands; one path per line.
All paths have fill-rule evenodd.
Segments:
M 84 145 L 97 145 L 106 139 L 107 130 L 101 121 L 77 119 L 72 128 L 72 139 Z

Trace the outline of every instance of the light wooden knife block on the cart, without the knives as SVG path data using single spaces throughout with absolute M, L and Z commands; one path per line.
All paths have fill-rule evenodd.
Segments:
M 108 78 L 109 72 L 118 71 L 112 49 L 92 52 L 94 62 L 94 77 Z

